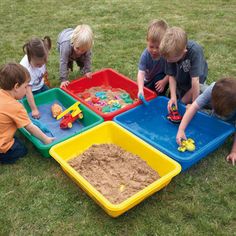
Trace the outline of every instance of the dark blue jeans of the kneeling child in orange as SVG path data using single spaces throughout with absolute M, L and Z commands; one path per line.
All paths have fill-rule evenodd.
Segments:
M 12 164 L 28 153 L 24 144 L 17 137 L 14 137 L 14 139 L 15 142 L 12 147 L 6 153 L 0 153 L 1 164 Z

